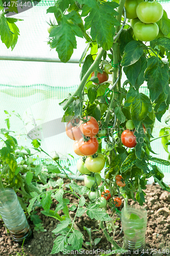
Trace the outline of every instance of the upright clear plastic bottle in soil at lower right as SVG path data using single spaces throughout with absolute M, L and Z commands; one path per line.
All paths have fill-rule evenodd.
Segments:
M 147 210 L 139 205 L 128 205 L 122 209 L 122 226 L 125 248 L 141 252 L 145 247 Z

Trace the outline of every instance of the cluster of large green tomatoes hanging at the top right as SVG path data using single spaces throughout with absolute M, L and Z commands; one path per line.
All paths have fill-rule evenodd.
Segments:
M 163 8 L 156 1 L 126 0 L 127 18 L 131 19 L 134 35 L 140 41 L 152 41 L 158 33 L 156 24 L 163 15 Z

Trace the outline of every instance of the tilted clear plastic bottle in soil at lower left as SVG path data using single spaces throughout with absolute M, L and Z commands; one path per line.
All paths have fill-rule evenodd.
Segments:
M 23 239 L 27 241 L 32 238 L 25 213 L 11 188 L 0 189 L 0 214 L 15 242 L 22 243 Z

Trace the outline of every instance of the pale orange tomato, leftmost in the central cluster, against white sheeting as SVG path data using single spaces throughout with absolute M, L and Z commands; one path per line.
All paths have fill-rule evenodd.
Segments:
M 79 119 L 75 119 L 74 122 L 76 123 L 79 122 Z M 79 124 L 78 124 L 79 125 Z M 66 135 L 71 139 L 71 140 L 79 140 L 82 137 L 82 132 L 80 128 L 77 126 L 72 126 L 71 121 L 69 121 L 66 125 Z

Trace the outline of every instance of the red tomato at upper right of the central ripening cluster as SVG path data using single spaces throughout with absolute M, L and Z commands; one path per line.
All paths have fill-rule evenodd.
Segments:
M 85 118 L 86 117 L 84 117 L 83 119 L 85 119 Z M 94 135 L 98 134 L 98 132 L 99 132 L 99 124 L 95 120 L 95 118 L 92 116 L 88 116 L 88 119 L 90 119 L 90 120 L 87 121 L 86 123 L 81 121 L 80 130 L 85 136 L 93 137 Z

